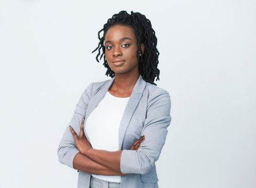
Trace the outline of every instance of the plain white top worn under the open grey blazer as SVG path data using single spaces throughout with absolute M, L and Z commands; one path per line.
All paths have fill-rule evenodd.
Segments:
M 93 149 L 119 150 L 119 125 L 129 98 L 115 97 L 107 92 L 91 112 L 84 126 Z M 109 182 L 121 182 L 121 175 L 92 176 Z

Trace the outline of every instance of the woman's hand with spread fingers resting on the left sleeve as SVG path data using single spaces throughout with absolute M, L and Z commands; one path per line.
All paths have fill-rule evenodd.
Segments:
M 82 155 L 86 156 L 87 151 L 89 149 L 92 149 L 92 146 L 86 138 L 86 135 L 84 135 L 83 122 L 84 119 L 82 120 L 79 136 L 77 136 L 77 133 L 74 132 L 71 126 L 69 126 L 69 129 L 74 137 L 74 143 L 76 143 L 77 149 L 80 151 Z

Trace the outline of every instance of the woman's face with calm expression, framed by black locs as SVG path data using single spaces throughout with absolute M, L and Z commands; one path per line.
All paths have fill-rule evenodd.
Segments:
M 144 44 L 143 44 L 144 50 Z M 116 74 L 138 74 L 137 40 L 129 26 L 116 25 L 105 34 L 105 57 Z

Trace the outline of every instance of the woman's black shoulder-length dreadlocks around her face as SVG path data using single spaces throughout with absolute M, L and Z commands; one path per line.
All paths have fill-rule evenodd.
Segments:
M 98 50 L 98 54 L 96 56 L 97 62 L 99 62 L 99 56 L 100 60 L 102 56 L 104 56 L 103 65 L 107 68 L 106 76 L 113 78 L 115 73 L 106 62 L 104 44 L 105 34 L 111 27 L 116 25 L 130 26 L 133 28 L 138 45 L 138 71 L 146 82 L 156 85 L 154 80 L 155 78 L 156 81 L 159 80 L 160 71 L 157 68 L 159 52 L 156 48 L 157 38 L 155 36 L 155 31 L 153 30 L 151 21 L 149 19 L 140 13 L 133 13 L 133 11 L 131 11 L 131 15 L 124 10 L 120 11 L 118 14 L 114 14 L 112 18 L 109 18 L 108 21 L 104 24 L 103 29 L 98 32 L 98 38 L 100 42 L 98 47 L 93 50 L 92 53 Z M 100 33 L 102 31 L 103 37 L 100 37 Z M 139 56 L 142 43 L 144 44 L 145 49 L 144 53 L 141 53 L 141 56 Z

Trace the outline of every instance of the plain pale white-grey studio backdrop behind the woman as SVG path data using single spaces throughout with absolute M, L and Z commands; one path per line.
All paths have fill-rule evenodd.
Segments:
M 57 148 L 120 10 L 151 20 L 172 100 L 159 187 L 256 187 L 255 1 L 0 1 L 0 187 L 76 187 Z M 111 109 L 108 109 L 111 110 Z

